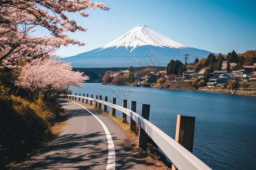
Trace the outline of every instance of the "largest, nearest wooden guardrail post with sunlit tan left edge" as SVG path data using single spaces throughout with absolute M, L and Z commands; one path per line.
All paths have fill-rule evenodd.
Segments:
M 191 153 L 193 151 L 195 120 L 196 117 L 177 115 L 175 141 Z M 172 164 L 172 170 L 174 169 L 176 169 L 175 165 Z

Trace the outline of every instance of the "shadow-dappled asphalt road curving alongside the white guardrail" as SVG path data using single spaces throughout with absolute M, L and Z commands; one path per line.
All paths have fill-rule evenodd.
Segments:
M 68 115 L 59 137 L 18 169 L 148 169 L 130 153 L 125 131 L 87 105 L 59 100 Z

